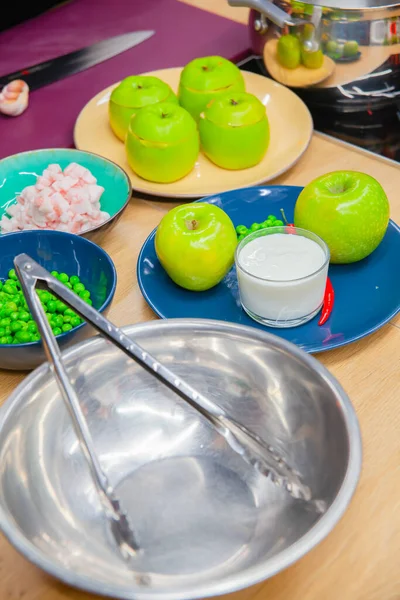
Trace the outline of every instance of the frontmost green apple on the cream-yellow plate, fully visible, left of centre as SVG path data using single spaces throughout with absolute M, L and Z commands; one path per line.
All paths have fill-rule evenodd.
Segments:
M 159 102 L 132 117 L 125 150 L 131 169 L 148 181 L 171 183 L 193 169 L 199 154 L 199 132 L 178 104 Z

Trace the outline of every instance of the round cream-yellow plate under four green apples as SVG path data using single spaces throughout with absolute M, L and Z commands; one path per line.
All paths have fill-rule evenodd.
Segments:
M 146 74 L 159 77 L 177 90 L 181 70 L 163 69 Z M 134 190 L 153 196 L 198 198 L 269 181 L 299 160 L 310 143 L 313 122 L 306 105 L 292 91 L 261 75 L 243 71 L 243 76 L 247 92 L 266 106 L 271 128 L 268 151 L 255 167 L 228 171 L 200 153 L 193 171 L 179 181 L 153 183 L 141 179 L 129 167 L 124 145 L 108 123 L 108 99 L 117 83 L 97 94 L 82 109 L 74 129 L 75 146 L 114 161 L 128 173 Z

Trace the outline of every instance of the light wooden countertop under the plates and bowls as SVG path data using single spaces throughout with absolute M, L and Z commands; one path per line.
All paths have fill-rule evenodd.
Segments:
M 233 13 L 238 9 L 228 7 L 225 0 L 190 1 L 219 14 L 234 14 L 238 20 L 247 18 L 245 10 Z M 400 222 L 399 165 L 320 134 L 313 136 L 300 162 L 273 183 L 304 185 L 336 169 L 376 177 L 389 196 L 391 217 Z M 119 273 L 110 311 L 118 325 L 155 318 L 139 291 L 135 265 L 148 233 L 171 206 L 135 197 L 104 243 Z M 364 459 L 357 492 L 340 523 L 317 548 L 272 579 L 225 600 L 400 599 L 400 316 L 372 336 L 317 358 L 346 389 L 360 420 Z M 23 374 L 0 371 L 0 376 L 3 402 Z M 94 600 L 94 596 L 53 580 L 0 538 L 0 599 Z

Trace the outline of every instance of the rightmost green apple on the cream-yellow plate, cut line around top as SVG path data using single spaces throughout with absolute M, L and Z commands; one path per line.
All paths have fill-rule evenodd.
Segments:
M 269 145 L 269 122 L 263 103 L 253 94 L 228 92 L 200 115 L 204 154 L 223 169 L 247 169 L 263 158 Z

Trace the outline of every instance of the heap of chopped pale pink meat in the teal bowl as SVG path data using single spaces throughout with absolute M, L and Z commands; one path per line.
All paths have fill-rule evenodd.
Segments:
M 2 233 L 24 229 L 54 229 L 82 233 L 110 218 L 100 208 L 104 188 L 92 173 L 77 163 L 64 171 L 52 164 L 27 186 L 1 221 Z

